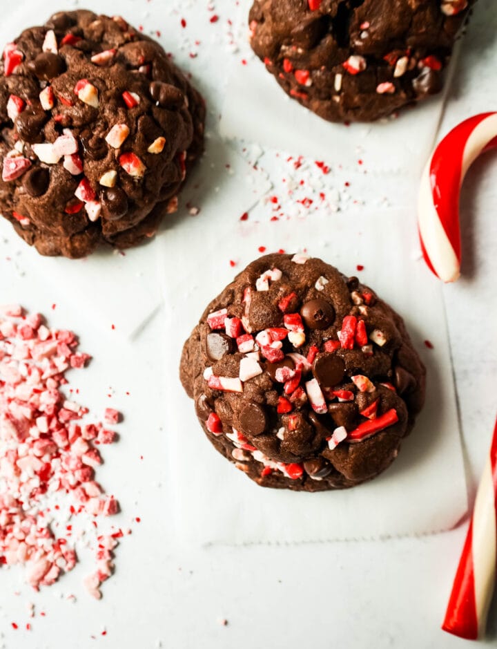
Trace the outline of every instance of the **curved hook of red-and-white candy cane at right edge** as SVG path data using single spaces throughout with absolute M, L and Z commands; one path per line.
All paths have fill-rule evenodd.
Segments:
M 497 113 L 469 117 L 438 144 L 421 178 L 418 225 L 423 256 L 442 281 L 460 275 L 459 194 L 480 153 L 497 146 Z

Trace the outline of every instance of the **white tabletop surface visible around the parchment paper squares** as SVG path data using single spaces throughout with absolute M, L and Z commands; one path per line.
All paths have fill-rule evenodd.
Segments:
M 105 10 L 112 3 L 89 0 L 87 5 Z M 183 14 L 191 25 L 207 25 L 201 30 L 204 43 L 199 61 L 189 60 L 189 42 L 179 49 L 178 59 L 193 70 L 215 114 L 220 100 L 207 79 L 212 79 L 214 73 L 219 83 L 225 78 L 228 28 L 210 32 L 211 13 L 201 0 L 128 0 L 124 5 L 119 11 L 125 14 L 126 8 L 133 9 L 142 16 L 148 31 L 161 28 L 163 33 L 175 32 Z M 213 6 L 222 21 L 235 17 L 232 0 L 217 0 Z M 49 0 L 43 7 L 32 1 L 18 3 L 12 12 L 10 8 L 4 11 L 7 17 L 12 13 L 20 25 L 27 13 L 30 21 L 36 22 L 57 8 L 59 1 Z M 163 24 L 158 27 L 158 23 Z M 467 115 L 496 105 L 496 75 L 491 67 L 496 58 L 496 32 L 494 2 L 480 0 L 450 93 L 442 126 L 445 131 Z M 6 26 L 0 24 L 1 41 L 11 36 L 10 30 L 7 32 Z M 211 114 L 211 124 L 214 121 Z M 271 168 L 270 158 L 264 160 L 266 172 L 271 175 L 277 171 L 277 165 Z M 366 204 L 379 203 L 384 197 L 390 205 L 414 204 L 416 178 L 371 175 L 374 182 L 371 176 L 355 178 L 355 195 L 362 191 Z M 444 290 L 471 498 L 496 414 L 496 299 L 494 285 L 489 281 L 496 272 L 496 177 L 496 153 L 487 154 L 469 172 L 462 198 L 463 276 Z M 32 594 L 23 585 L 21 572 L 2 570 L 0 631 L 7 647 L 451 649 L 465 644 L 439 630 L 465 525 L 435 536 L 374 543 L 178 547 L 168 524 L 171 494 L 161 487 L 166 478 L 164 458 L 168 449 L 163 430 L 167 402 L 162 395 L 159 369 L 168 366 L 167 359 L 160 355 L 160 320 L 150 323 L 135 341 L 130 355 L 133 371 L 124 370 L 119 366 L 122 349 L 111 333 L 97 335 L 90 313 L 72 308 L 72 302 L 57 294 L 56 285 L 40 283 L 36 273 L 25 272 L 21 243 L 10 234 L 5 241 L 3 232 L 0 301 L 15 299 L 30 310 L 43 312 L 57 301 L 52 322 L 81 333 L 82 347 L 94 353 L 99 363 L 88 370 L 87 379 L 81 379 L 90 382 L 86 384 L 87 402 L 96 412 L 98 395 L 106 390 L 108 382 L 117 387 L 131 386 L 132 395 L 136 391 L 133 408 L 126 409 L 125 403 L 116 401 L 116 406 L 129 416 L 121 429 L 121 441 L 106 454 L 108 464 L 101 479 L 104 485 L 112 485 L 121 500 L 121 524 L 126 525 L 126 520 L 138 514 L 142 518 L 134 534 L 118 549 L 117 572 L 104 586 L 101 602 L 90 601 L 83 592 L 82 567 L 40 594 Z M 144 357 L 146 361 L 139 361 Z M 114 369 L 110 369 L 111 363 Z M 143 461 L 139 455 L 144 456 Z M 77 603 L 66 600 L 72 592 L 77 594 Z M 13 631 L 10 621 L 28 621 L 27 601 L 36 605 L 33 630 Z M 41 610 L 46 617 L 39 616 Z M 490 617 L 487 644 L 496 646 L 495 601 Z M 227 619 L 228 626 L 222 626 L 220 619 Z M 107 634 L 101 636 L 104 629 Z M 92 634 L 96 639 L 90 638 Z

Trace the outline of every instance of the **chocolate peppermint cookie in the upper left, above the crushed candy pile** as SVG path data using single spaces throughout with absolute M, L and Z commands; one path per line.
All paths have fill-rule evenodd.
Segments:
M 151 237 L 202 153 L 202 97 L 121 17 L 53 15 L 3 50 L 0 211 L 38 252 Z

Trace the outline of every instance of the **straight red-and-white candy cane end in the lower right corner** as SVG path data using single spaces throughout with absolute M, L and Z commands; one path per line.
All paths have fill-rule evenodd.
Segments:
M 497 421 L 442 629 L 461 638 L 483 637 L 496 579 Z

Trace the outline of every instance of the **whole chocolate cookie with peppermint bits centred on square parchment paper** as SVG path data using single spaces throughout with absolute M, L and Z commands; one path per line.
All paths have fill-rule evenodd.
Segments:
M 400 316 L 302 254 L 257 259 L 208 305 L 180 377 L 217 451 L 259 485 L 304 491 L 384 471 L 425 397 Z

